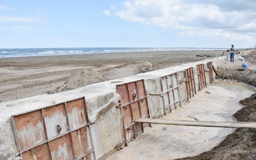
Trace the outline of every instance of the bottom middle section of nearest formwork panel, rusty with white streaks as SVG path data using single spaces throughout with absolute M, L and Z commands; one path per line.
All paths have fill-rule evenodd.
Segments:
M 70 134 L 66 134 L 49 142 L 52 160 L 73 159 L 73 148 Z

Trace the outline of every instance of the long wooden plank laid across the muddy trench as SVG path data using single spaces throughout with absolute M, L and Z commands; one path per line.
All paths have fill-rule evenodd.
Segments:
M 153 118 L 139 118 L 134 122 L 169 124 L 169 125 L 188 125 L 188 126 L 201 126 L 201 127 L 256 128 L 256 122 L 185 121 L 185 120 L 165 120 L 165 119 L 153 119 Z

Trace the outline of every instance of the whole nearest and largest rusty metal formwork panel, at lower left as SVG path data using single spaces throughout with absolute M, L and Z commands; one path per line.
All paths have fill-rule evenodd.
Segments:
M 22 159 L 91 159 L 94 155 L 85 99 L 12 116 Z

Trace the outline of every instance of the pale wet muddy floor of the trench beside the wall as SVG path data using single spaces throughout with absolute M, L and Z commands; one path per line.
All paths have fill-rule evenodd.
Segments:
M 254 87 L 243 83 L 216 80 L 163 119 L 236 121 L 232 115 L 243 107 L 239 100 L 255 92 Z M 211 150 L 234 131 L 233 128 L 152 124 L 107 159 L 167 160 L 196 156 Z

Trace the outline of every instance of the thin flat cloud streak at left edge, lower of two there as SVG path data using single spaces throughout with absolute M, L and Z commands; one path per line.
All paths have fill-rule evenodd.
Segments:
M 19 17 L 19 16 L 0 16 L 0 23 L 6 22 L 39 22 L 37 17 Z

